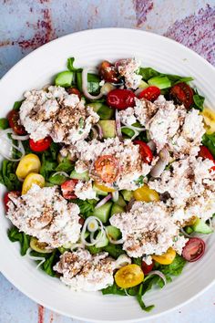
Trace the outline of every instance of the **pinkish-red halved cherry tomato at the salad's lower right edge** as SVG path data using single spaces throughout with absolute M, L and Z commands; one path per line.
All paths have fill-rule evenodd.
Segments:
M 200 259 L 205 252 L 205 243 L 200 238 L 190 238 L 187 244 L 183 247 L 182 256 L 192 263 Z

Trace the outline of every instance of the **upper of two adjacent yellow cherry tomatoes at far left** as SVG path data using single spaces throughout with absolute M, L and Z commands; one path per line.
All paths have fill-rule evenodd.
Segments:
M 34 153 L 28 153 L 18 163 L 15 174 L 18 178 L 25 179 L 30 172 L 39 172 L 40 167 L 39 157 Z

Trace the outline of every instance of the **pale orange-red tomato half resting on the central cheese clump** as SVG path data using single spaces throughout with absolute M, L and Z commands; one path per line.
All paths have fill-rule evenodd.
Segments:
M 112 155 L 103 155 L 95 162 L 97 175 L 104 182 L 115 182 L 118 177 L 118 159 Z

